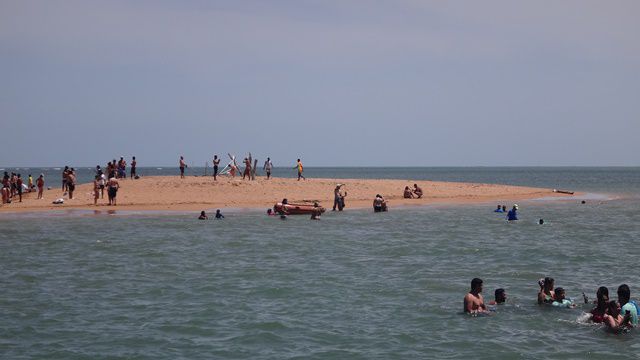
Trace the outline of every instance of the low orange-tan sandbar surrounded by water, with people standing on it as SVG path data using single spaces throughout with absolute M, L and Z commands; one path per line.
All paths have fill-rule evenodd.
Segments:
M 153 176 L 138 180 L 121 180 L 117 195 L 117 206 L 108 206 L 107 191 L 104 199 L 93 205 L 93 184 L 76 186 L 74 198 L 68 199 L 59 188 L 45 190 L 44 199 L 36 199 L 37 193 L 23 195 L 23 202 L 16 199 L 4 204 L 0 212 L 34 212 L 72 209 L 119 209 L 119 210 L 160 210 L 160 211 L 201 211 L 211 209 L 267 209 L 287 198 L 290 203 L 318 201 L 331 210 L 333 189 L 337 183 L 345 184 L 347 192 L 346 210 L 370 208 L 376 194 L 382 194 L 392 209 L 400 206 L 429 204 L 492 203 L 505 204 L 508 207 L 519 200 L 568 197 L 570 195 L 554 193 L 552 189 L 522 186 L 413 181 L 413 180 L 371 180 L 371 179 L 296 179 L 264 177 L 255 181 L 242 180 L 239 177 L 189 176 Z M 404 199 L 405 186 L 414 183 L 424 191 L 421 199 Z M 52 201 L 64 198 L 61 205 Z

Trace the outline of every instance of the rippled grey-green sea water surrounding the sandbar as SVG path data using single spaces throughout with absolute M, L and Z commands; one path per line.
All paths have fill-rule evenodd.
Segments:
M 316 173 L 317 171 L 317 173 Z M 640 298 L 638 168 L 309 169 L 309 176 L 456 180 L 587 191 L 321 221 L 262 212 L 0 215 L 2 359 L 636 359 L 640 330 L 585 323 L 581 292 Z M 348 203 L 347 203 L 348 206 Z M 545 219 L 538 225 L 538 219 Z M 537 280 L 578 300 L 536 304 Z M 462 313 L 473 277 L 508 301 Z

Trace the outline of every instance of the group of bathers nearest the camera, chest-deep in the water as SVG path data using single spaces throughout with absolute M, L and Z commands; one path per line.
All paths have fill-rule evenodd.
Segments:
M 545 277 L 538 281 L 538 304 L 557 308 L 576 308 L 576 303 L 567 298 L 562 287 L 555 287 L 555 281 L 551 277 Z M 463 300 L 464 312 L 471 315 L 489 313 L 489 308 L 482 297 L 482 279 L 471 280 L 471 290 Z M 589 319 L 594 323 L 602 323 L 614 332 L 627 330 L 638 326 L 639 307 L 631 300 L 631 290 L 627 284 L 622 284 L 617 290 L 618 301 L 609 299 L 609 289 L 605 286 L 598 288 L 596 292 L 595 307 L 589 311 Z M 584 303 L 589 304 L 588 297 L 582 293 Z M 489 305 L 502 304 L 506 301 L 504 289 L 496 289 L 495 300 Z

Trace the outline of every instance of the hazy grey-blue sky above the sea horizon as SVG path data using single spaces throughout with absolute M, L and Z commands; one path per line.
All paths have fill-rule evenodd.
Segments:
M 2 166 L 640 165 L 640 1 L 0 0 Z

